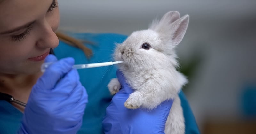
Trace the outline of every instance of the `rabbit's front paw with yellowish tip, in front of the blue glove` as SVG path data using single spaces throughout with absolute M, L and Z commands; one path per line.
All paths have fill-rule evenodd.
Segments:
M 124 102 L 124 106 L 128 109 L 137 109 L 142 105 L 142 95 L 140 93 L 132 93 Z

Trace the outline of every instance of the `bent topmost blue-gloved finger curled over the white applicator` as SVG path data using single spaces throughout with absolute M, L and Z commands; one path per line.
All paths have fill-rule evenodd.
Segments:
M 38 79 L 36 85 L 41 86 L 41 89 L 53 89 L 56 83 L 72 69 L 74 63 L 75 61 L 73 58 L 64 58 L 53 63 Z

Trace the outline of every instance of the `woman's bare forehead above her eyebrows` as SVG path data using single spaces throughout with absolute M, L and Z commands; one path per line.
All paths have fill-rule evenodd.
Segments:
M 43 17 L 52 0 L 0 0 L 0 32 Z

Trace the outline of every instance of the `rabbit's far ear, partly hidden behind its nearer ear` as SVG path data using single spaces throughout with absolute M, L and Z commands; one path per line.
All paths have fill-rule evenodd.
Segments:
M 153 20 L 150 24 L 149 29 L 157 30 L 163 26 L 163 24 L 171 24 L 172 22 L 176 21 L 180 18 L 180 13 L 178 11 L 169 11 L 164 14 L 160 21 L 157 19 Z M 161 26 L 160 26 L 161 25 Z

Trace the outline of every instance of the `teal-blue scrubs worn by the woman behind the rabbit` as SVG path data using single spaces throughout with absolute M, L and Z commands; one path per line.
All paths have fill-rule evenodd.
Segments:
M 98 63 L 111 61 L 115 43 L 122 43 L 127 36 L 103 33 L 72 33 L 73 37 L 92 41 L 95 44 L 85 44 L 92 49 L 93 56 L 87 59 L 83 51 L 60 41 L 54 49 L 55 55 L 60 58 L 73 57 L 75 64 Z M 111 78 L 116 78 L 116 66 L 98 67 L 78 70 L 80 81 L 88 93 L 88 104 L 85 109 L 83 124 L 77 134 L 102 134 L 102 119 L 105 110 L 112 99 L 107 85 Z M 183 92 L 180 93 L 181 103 L 185 116 L 187 134 L 198 134 L 199 130 L 194 115 L 189 107 L 188 101 Z M 10 103 L 0 100 L 0 134 L 13 134 L 20 127 L 22 113 Z

